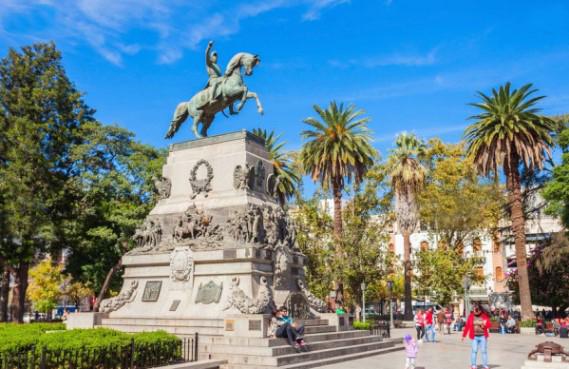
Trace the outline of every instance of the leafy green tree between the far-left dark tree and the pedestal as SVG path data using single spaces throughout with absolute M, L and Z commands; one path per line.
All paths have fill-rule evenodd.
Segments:
M 66 227 L 73 247 L 66 271 L 98 291 L 99 302 L 118 282 L 121 256 L 132 235 L 154 206 L 154 180 L 165 151 L 141 144 L 126 129 L 89 122 L 83 142 L 73 147 L 74 222 Z

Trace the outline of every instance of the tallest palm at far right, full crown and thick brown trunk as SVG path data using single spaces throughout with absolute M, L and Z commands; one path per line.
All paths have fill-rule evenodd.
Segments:
M 527 271 L 525 218 L 522 205 L 520 169 L 528 172 L 543 168 L 551 158 L 551 133 L 556 123 L 539 115 L 536 103 L 544 96 L 534 96 L 536 89 L 526 84 L 512 90 L 510 83 L 492 89 L 482 100 L 470 104 L 480 112 L 470 119 L 476 123 L 466 129 L 467 152 L 472 156 L 479 173 L 498 175 L 501 167 L 509 193 L 510 218 L 516 248 L 519 295 L 523 319 L 532 319 L 532 306 Z

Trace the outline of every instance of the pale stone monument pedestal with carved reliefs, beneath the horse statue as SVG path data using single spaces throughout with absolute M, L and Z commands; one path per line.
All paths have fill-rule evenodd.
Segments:
M 243 331 L 236 315 L 323 309 L 305 288 L 305 257 L 275 185 L 264 142 L 246 131 L 172 145 L 156 181 L 162 198 L 123 256 L 121 293 L 101 310 L 164 325 L 231 316 Z

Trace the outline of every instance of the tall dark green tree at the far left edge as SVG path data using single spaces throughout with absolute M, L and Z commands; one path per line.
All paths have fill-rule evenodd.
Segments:
M 93 110 L 65 74 L 55 45 L 10 49 L 0 60 L 0 193 L 6 224 L 0 239 L 15 270 L 14 320 L 22 321 L 28 270 L 38 250 L 63 243 L 70 148 Z

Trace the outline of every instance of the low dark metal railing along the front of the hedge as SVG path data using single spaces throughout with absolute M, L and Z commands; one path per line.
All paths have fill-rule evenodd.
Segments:
M 128 347 L 49 350 L 45 347 L 0 353 L 1 369 L 143 369 L 197 361 L 198 334 L 179 340 L 174 350 L 160 343 Z

